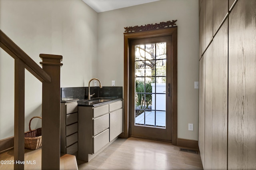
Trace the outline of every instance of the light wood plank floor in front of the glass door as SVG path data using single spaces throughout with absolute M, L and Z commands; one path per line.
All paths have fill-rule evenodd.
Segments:
M 184 148 L 184 147 L 182 147 Z M 118 138 L 90 162 L 78 160 L 79 170 L 202 170 L 200 154 L 180 152 L 179 146 L 138 138 Z

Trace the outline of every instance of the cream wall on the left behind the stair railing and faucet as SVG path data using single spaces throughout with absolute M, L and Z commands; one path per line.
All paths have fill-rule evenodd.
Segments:
M 0 29 L 32 59 L 63 56 L 61 87 L 87 86 L 96 76 L 97 13 L 82 0 L 0 0 Z M 0 49 L 0 139 L 14 135 L 14 59 Z M 42 83 L 25 72 L 25 131 L 42 115 Z M 33 120 L 32 128 L 40 127 Z

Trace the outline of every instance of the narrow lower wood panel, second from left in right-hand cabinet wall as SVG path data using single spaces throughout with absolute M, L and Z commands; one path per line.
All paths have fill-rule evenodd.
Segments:
M 205 53 L 205 150 L 204 169 L 212 169 L 212 61 L 213 45 L 208 47 Z

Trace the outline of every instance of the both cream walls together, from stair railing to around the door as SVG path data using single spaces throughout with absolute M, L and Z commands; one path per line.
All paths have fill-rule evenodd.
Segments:
M 168 20 L 178 20 L 178 138 L 198 140 L 198 0 L 160 0 L 99 14 L 82 0 L 0 0 L 0 29 L 36 63 L 40 53 L 63 55 L 61 87 L 88 86 L 92 77 L 103 86 L 112 80 L 123 86 L 124 27 Z M 30 118 L 42 114 L 42 85 L 28 71 L 25 81 L 28 130 Z M 2 139 L 14 131 L 14 60 L 2 49 L 0 82 Z M 34 124 L 40 127 L 40 121 Z

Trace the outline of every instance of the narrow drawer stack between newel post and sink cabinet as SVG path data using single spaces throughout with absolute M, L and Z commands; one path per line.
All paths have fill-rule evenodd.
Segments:
M 76 101 L 60 105 L 60 151 L 77 156 L 78 105 Z

